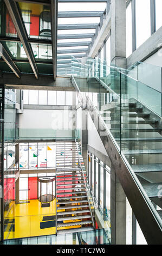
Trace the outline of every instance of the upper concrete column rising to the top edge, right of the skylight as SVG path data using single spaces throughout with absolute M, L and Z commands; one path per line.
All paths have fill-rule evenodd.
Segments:
M 111 64 L 126 68 L 126 1 L 111 1 Z

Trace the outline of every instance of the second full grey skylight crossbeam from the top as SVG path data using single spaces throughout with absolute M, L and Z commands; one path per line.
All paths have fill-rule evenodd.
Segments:
M 9 1 L 9 0 L 8 0 Z M 67 30 L 67 29 L 96 29 L 98 24 L 67 24 L 67 25 L 58 25 L 58 30 Z

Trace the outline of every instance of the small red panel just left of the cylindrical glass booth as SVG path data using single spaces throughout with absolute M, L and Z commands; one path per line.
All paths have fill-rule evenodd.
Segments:
M 28 178 L 28 198 L 29 199 L 37 199 L 38 198 L 38 182 L 37 177 L 29 177 Z

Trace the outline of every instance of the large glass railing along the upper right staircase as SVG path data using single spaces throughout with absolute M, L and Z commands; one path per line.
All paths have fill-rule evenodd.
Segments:
M 137 66 L 138 72 L 142 65 Z M 155 75 L 159 76 L 160 71 L 155 70 Z M 80 64 L 77 72 L 72 64 L 72 71 L 72 81 L 82 102 L 88 96 L 88 101 L 93 103 L 162 227 L 159 197 L 162 184 L 161 93 L 146 84 L 142 71 L 139 80 L 135 70 L 131 75 L 128 70 L 108 66 L 99 59 L 88 58 L 86 65 Z

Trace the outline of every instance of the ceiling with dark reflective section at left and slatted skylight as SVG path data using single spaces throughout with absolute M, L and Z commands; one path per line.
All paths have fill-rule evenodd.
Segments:
M 87 57 L 109 0 L 0 0 L 0 70 L 54 77 Z

